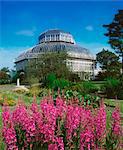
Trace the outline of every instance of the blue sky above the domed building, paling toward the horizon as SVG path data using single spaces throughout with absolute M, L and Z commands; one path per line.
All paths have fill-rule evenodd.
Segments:
M 93 55 L 111 49 L 102 25 L 111 23 L 118 9 L 123 9 L 122 0 L 0 0 L 0 68 L 12 69 L 14 59 L 48 29 L 70 32 Z

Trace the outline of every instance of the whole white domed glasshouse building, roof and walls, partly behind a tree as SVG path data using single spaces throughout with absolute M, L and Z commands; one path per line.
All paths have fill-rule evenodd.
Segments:
M 39 42 L 15 59 L 17 71 L 25 70 L 30 59 L 36 59 L 39 54 L 46 52 L 66 51 L 69 59 L 66 65 L 83 80 L 94 78 L 95 59 L 88 49 L 75 43 L 69 32 L 48 30 L 38 38 Z

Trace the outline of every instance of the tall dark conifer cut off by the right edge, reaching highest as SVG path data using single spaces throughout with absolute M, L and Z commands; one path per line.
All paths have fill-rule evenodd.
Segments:
M 122 60 L 122 73 L 123 73 L 123 10 L 119 10 L 115 15 L 112 23 L 103 25 L 107 28 L 108 32 L 105 36 L 109 37 L 108 43 L 119 54 Z

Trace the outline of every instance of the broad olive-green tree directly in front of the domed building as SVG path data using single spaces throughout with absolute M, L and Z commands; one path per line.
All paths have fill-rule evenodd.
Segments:
M 47 52 L 40 54 L 38 58 L 30 60 L 26 73 L 28 77 L 38 78 L 40 81 L 54 73 L 57 78 L 68 79 L 70 71 L 66 66 L 68 55 L 66 52 Z

